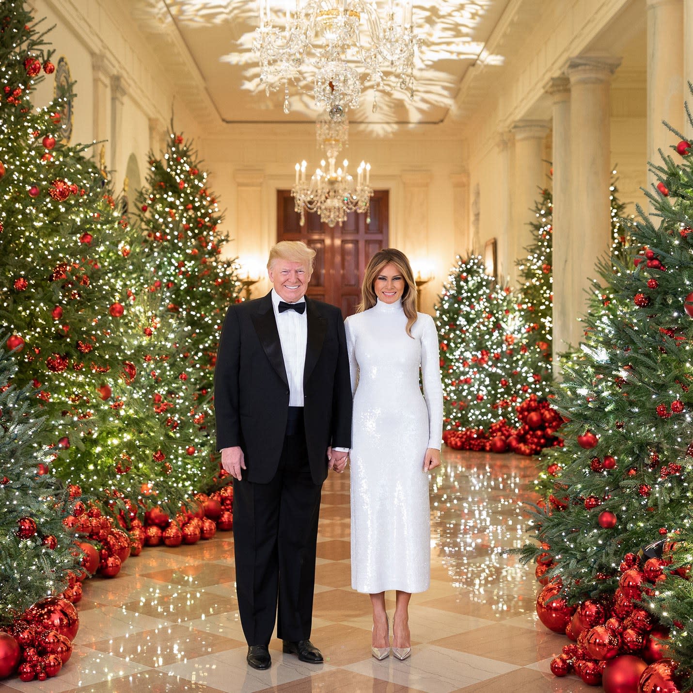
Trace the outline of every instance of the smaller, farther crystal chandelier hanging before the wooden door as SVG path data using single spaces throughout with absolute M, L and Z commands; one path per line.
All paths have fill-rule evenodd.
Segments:
M 357 178 L 349 175 L 349 162 L 345 159 L 344 168 L 337 167 L 337 155 L 342 147 L 349 144 L 349 121 L 346 115 L 340 118 L 322 114 L 316 124 L 318 146 L 326 157 L 320 162 L 322 168 L 316 169 L 310 180 L 306 180 L 306 162 L 296 164 L 296 182 L 291 189 L 294 208 L 301 214 L 301 225 L 306 221 L 305 212 L 316 212 L 320 221 L 328 226 L 344 223 L 349 212 L 365 212 L 367 223 L 371 221 L 370 201 L 373 190 L 370 187 L 371 164 L 361 162 Z M 326 168 L 327 166 L 327 168 Z

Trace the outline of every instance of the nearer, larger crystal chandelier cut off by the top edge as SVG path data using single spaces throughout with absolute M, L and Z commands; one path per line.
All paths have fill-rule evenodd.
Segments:
M 414 99 L 414 54 L 420 39 L 412 26 L 412 1 L 387 0 L 380 19 L 375 0 L 295 0 L 295 9 L 293 0 L 285 0 L 286 12 L 274 14 L 270 0 L 259 0 L 253 49 L 265 92 L 283 85 L 288 113 L 289 80 L 297 83 L 305 76 L 301 70 L 315 71 L 316 107 L 339 117 L 358 105 L 361 75 L 353 66 L 360 65 L 374 87 L 374 111 L 378 89 L 385 87 L 384 69 Z

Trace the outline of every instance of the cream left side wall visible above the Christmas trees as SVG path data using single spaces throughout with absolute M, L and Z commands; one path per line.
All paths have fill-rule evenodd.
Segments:
M 131 154 L 137 157 L 144 178 L 150 148 L 150 123 L 157 123 L 156 145 L 161 129 L 170 121 L 175 101 L 176 127 L 186 135 L 199 135 L 198 124 L 182 100 L 175 100 L 175 74 L 165 56 L 150 51 L 137 33 L 132 19 L 112 0 L 35 0 L 31 7 L 45 28 L 55 25 L 48 40 L 55 49 L 54 62 L 64 55 L 76 80 L 71 143 L 105 141 L 94 147 L 98 160 L 105 147 L 107 168 L 114 187 L 120 190 Z M 160 59 L 163 58 L 163 59 Z M 100 78 L 101 87 L 98 87 Z M 120 127 L 113 129 L 114 94 L 119 79 L 121 99 L 116 110 Z M 48 76 L 35 94 L 35 105 L 46 105 L 53 96 L 53 76 Z M 114 140 L 113 135 L 116 135 Z

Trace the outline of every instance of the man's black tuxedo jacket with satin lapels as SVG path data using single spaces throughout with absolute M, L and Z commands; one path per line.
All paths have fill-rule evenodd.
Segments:
M 327 476 L 327 447 L 351 447 L 351 381 L 340 309 L 306 297 L 308 343 L 304 420 L 315 484 Z M 289 385 L 272 292 L 232 305 L 222 329 L 214 372 L 217 449 L 240 445 L 243 476 L 267 484 L 284 443 Z

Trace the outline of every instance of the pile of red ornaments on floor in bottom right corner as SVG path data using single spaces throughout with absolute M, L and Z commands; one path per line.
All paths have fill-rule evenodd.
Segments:
M 574 671 L 588 685 L 602 683 L 606 693 L 678 693 L 677 662 L 667 658 L 665 645 L 658 642 L 667 640 L 669 631 L 637 604 L 666 579 L 670 564 L 668 558 L 626 554 L 615 592 L 568 606 L 563 597 L 555 598 L 560 579 L 549 582 L 545 576 L 554 565 L 550 554 L 539 556 L 536 576 L 544 585 L 536 599 L 539 620 L 554 633 L 577 641 L 565 645 L 552 660 L 553 674 Z M 688 579 L 690 568 L 670 573 Z

